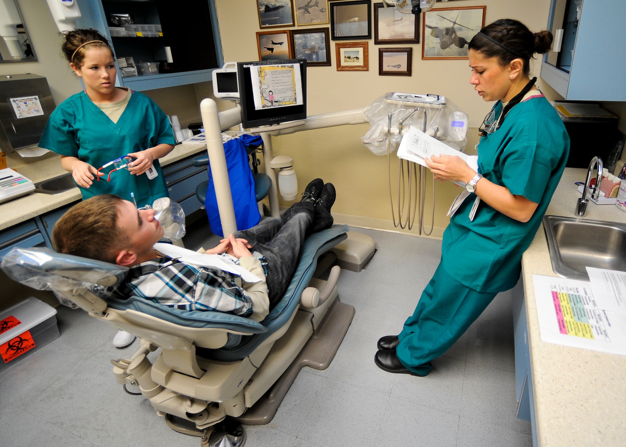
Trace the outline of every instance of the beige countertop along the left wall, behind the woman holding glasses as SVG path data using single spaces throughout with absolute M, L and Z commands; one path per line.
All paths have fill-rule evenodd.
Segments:
M 200 145 L 177 145 L 172 152 L 168 153 L 168 155 L 161 158 L 159 161 L 162 166 L 166 166 L 195 153 L 203 152 L 206 148 L 207 146 Z M 30 162 L 28 165 L 14 169 L 30 180 L 33 180 L 34 183 L 66 173 L 61 167 L 60 157 L 41 158 L 43 159 Z M 11 168 L 10 165 L 9 168 Z M 52 211 L 56 208 L 63 207 L 63 205 L 80 200 L 81 197 L 80 189 L 76 187 L 60 194 L 33 192 L 23 197 L 9 200 L 9 202 L 0 203 L 0 230 L 4 230 L 12 225 L 16 225 L 16 223 L 24 222 L 24 220 L 28 220 L 29 218 Z

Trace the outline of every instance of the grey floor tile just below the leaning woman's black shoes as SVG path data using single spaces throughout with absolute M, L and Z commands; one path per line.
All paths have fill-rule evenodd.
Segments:
M 433 370 L 426 377 L 396 374 L 391 397 L 459 414 L 464 370 L 464 361 L 439 357 L 433 360 Z

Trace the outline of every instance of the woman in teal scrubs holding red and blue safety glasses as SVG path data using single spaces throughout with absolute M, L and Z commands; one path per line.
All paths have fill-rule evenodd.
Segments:
M 163 111 L 147 96 L 115 86 L 116 68 L 108 41 L 94 29 L 76 29 L 65 35 L 63 53 L 85 83 L 51 114 L 39 146 L 61 155 L 83 199 L 102 193 L 131 200 L 138 206 L 167 197 L 158 159 L 172 151 L 176 141 Z M 130 155 L 128 170 L 108 174 L 108 162 Z M 154 168 L 156 177 L 146 171 Z M 100 178 L 98 178 L 100 177 Z M 97 178 L 97 180 L 96 180 Z

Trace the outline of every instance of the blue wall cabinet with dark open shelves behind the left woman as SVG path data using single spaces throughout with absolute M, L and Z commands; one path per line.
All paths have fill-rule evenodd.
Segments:
M 215 0 L 94 0 L 79 28 L 103 33 L 117 58 L 117 85 L 152 90 L 210 81 L 222 66 Z

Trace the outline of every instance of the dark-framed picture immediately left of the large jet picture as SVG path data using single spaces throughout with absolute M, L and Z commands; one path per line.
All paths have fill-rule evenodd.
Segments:
M 419 43 L 420 17 L 374 3 L 374 44 Z

